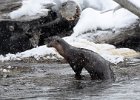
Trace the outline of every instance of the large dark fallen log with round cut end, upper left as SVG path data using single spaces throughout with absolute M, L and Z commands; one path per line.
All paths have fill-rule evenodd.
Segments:
M 16 2 L 17 1 L 18 0 L 16 0 Z M 15 7 L 17 6 L 14 6 L 12 9 L 15 9 Z M 76 3 L 74 7 L 78 7 Z M 74 7 L 72 9 L 76 10 Z M 5 11 L 5 13 L 10 12 L 9 10 L 3 9 L 0 11 Z M 70 35 L 80 15 L 79 7 L 77 9 L 75 12 L 78 14 L 76 14 L 76 16 L 74 15 L 73 20 L 67 20 L 67 18 L 62 17 L 62 11 L 59 13 L 52 10 L 50 10 L 47 16 L 42 17 L 24 16 L 14 20 L 1 19 L 0 54 L 22 52 L 36 46 L 44 45 L 45 39 L 50 36 L 58 35 L 63 37 Z M 70 8 L 67 10 L 70 10 Z

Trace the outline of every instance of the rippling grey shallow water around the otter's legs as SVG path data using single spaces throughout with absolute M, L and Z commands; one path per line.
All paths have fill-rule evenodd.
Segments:
M 114 83 L 90 80 L 85 70 L 76 80 L 68 64 L 1 63 L 0 100 L 139 100 L 139 61 L 113 67 Z

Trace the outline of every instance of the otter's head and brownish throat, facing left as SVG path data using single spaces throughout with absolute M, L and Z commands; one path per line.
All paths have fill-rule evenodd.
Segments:
M 47 47 L 54 47 L 60 55 L 64 56 L 65 41 L 58 36 L 49 38 Z

